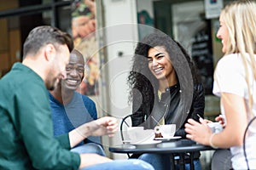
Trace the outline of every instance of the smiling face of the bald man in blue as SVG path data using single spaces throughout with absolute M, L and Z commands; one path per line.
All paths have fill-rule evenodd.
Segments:
M 82 54 L 71 53 L 66 66 L 67 77 L 62 80 L 62 88 L 76 90 L 84 78 L 84 58 Z

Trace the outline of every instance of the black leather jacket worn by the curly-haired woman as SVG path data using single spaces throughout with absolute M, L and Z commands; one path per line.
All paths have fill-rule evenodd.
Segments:
M 182 138 L 186 138 L 186 133 L 184 131 L 184 124 L 187 122 L 189 118 L 194 119 L 195 121 L 199 122 L 199 116 L 204 117 L 204 108 L 205 108 L 205 94 L 204 94 L 204 88 L 202 84 L 195 84 L 194 85 L 194 93 L 192 99 L 192 104 L 188 112 L 183 112 L 183 110 L 180 109 L 180 98 L 181 98 L 181 91 L 179 85 L 174 85 L 170 88 L 166 88 L 166 93 L 161 94 L 161 99 L 159 99 L 158 96 L 154 97 L 154 104 L 149 105 L 157 105 L 155 107 L 148 107 L 145 105 L 140 105 L 142 102 L 138 101 L 137 99 L 133 99 L 133 111 L 134 108 L 138 108 L 137 111 L 134 111 L 131 120 L 132 120 L 132 126 L 144 126 L 146 128 L 154 128 L 157 122 L 154 120 L 159 120 L 157 118 L 154 118 L 154 120 L 151 122 L 154 125 L 150 124 L 150 121 L 147 123 L 147 121 L 152 117 L 156 117 L 157 115 L 162 115 L 165 117 L 165 123 L 166 124 L 179 124 L 177 126 L 177 131 L 175 133 L 176 136 L 182 136 Z M 157 93 L 156 93 L 157 94 Z M 169 104 L 169 105 L 166 105 Z M 151 109 L 150 109 L 151 108 Z M 153 109 L 152 109 L 153 108 Z M 181 116 L 182 114 L 185 114 L 185 119 L 181 123 L 177 123 L 178 116 Z M 160 117 L 162 117 L 160 116 Z

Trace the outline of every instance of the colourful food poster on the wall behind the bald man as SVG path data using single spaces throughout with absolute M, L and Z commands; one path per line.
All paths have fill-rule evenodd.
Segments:
M 100 57 L 96 41 L 96 2 L 74 0 L 72 4 L 72 35 L 74 48 L 84 56 L 84 80 L 78 91 L 81 94 L 98 95 Z

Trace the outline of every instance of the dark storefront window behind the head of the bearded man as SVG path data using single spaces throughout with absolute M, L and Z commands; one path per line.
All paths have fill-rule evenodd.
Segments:
M 22 44 L 35 26 L 56 26 L 71 33 L 71 1 L 58 2 L 0 1 L 0 78 L 22 60 Z

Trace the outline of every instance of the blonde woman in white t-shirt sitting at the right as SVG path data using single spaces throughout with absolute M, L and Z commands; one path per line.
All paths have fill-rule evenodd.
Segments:
M 217 36 L 222 39 L 224 57 L 214 73 L 213 94 L 221 98 L 224 130 L 212 133 L 202 119 L 189 119 L 185 125 L 187 138 L 213 148 L 230 148 L 234 169 L 256 169 L 255 123 L 247 129 L 256 115 L 255 9 L 255 0 L 241 0 L 230 3 L 220 14 Z

